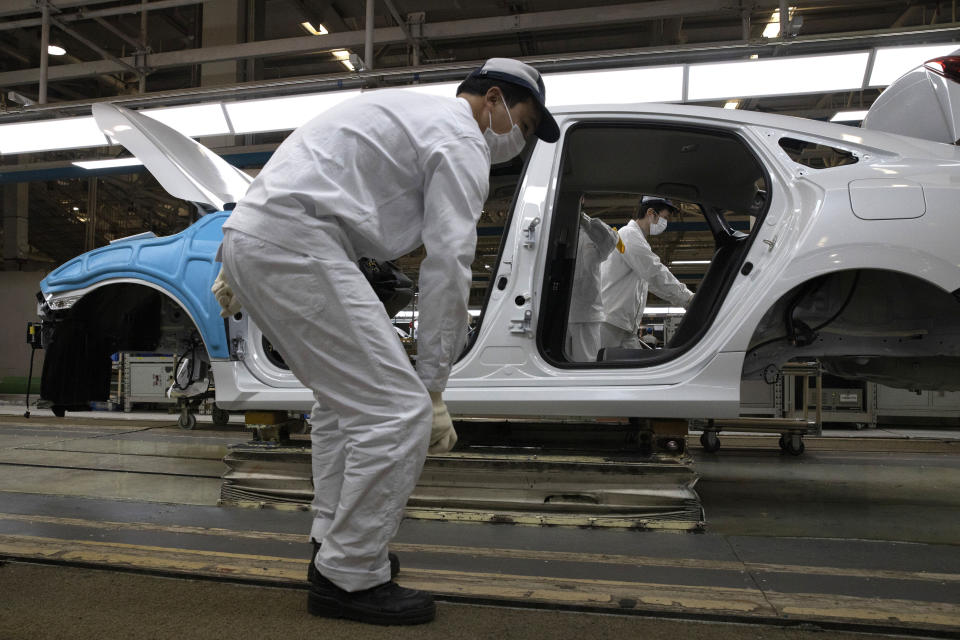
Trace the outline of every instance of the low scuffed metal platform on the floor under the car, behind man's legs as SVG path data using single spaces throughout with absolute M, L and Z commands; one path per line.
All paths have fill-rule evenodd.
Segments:
M 306 508 L 310 449 L 234 445 L 224 458 L 221 504 Z M 530 525 L 699 530 L 703 508 L 690 460 L 650 456 L 445 454 L 430 456 L 407 517 Z

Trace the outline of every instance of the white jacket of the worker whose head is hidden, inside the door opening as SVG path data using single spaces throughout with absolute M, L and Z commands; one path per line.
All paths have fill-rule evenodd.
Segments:
M 568 322 L 603 322 L 600 264 L 617 246 L 617 232 L 599 218 L 580 214 L 577 264 L 573 274 Z

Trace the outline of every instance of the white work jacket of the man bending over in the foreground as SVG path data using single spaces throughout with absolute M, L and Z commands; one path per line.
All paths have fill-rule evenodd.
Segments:
M 392 260 L 423 245 L 417 373 L 442 391 L 466 342 L 489 176 L 466 100 L 371 91 L 294 131 L 223 227 L 306 255 L 316 255 L 314 234 L 337 227 L 355 258 Z

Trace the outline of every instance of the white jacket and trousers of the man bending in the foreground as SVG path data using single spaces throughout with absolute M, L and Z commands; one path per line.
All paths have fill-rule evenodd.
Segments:
M 347 591 L 387 582 L 387 543 L 467 336 L 490 154 L 467 101 L 384 89 L 293 132 L 223 225 L 224 275 L 314 393 L 311 538 Z M 417 370 L 357 266 L 420 245 Z

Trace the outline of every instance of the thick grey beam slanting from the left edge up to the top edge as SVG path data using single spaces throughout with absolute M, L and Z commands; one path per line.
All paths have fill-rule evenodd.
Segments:
M 425 23 L 422 28 L 422 35 L 428 40 L 444 40 L 518 31 L 543 31 L 623 24 L 624 22 L 641 22 L 665 17 L 711 15 L 718 12 L 728 12 L 738 15 L 739 11 L 739 2 L 737 0 L 688 0 L 688 2 L 682 4 L 677 4 L 672 0 L 655 0 L 653 2 L 640 4 L 620 4 L 590 9 L 541 11 L 494 18 L 454 20 L 433 24 Z M 347 31 L 344 33 L 331 33 L 321 37 L 300 36 L 296 38 L 264 40 L 261 42 L 249 42 L 237 45 L 156 53 L 148 57 L 147 64 L 151 69 L 162 69 L 221 60 L 297 55 L 332 49 L 360 47 L 365 44 L 365 41 L 365 31 Z M 378 45 L 401 43 L 406 42 L 406 35 L 400 27 L 383 27 L 374 29 L 373 41 Z M 122 72 L 126 71 L 130 66 L 136 65 L 136 61 L 132 56 L 120 60 L 122 60 L 122 62 L 103 60 L 78 65 L 59 65 L 50 69 L 49 80 L 87 78 L 102 73 Z M 0 86 L 16 86 L 37 82 L 38 73 L 38 69 L 24 69 L 0 73 Z

